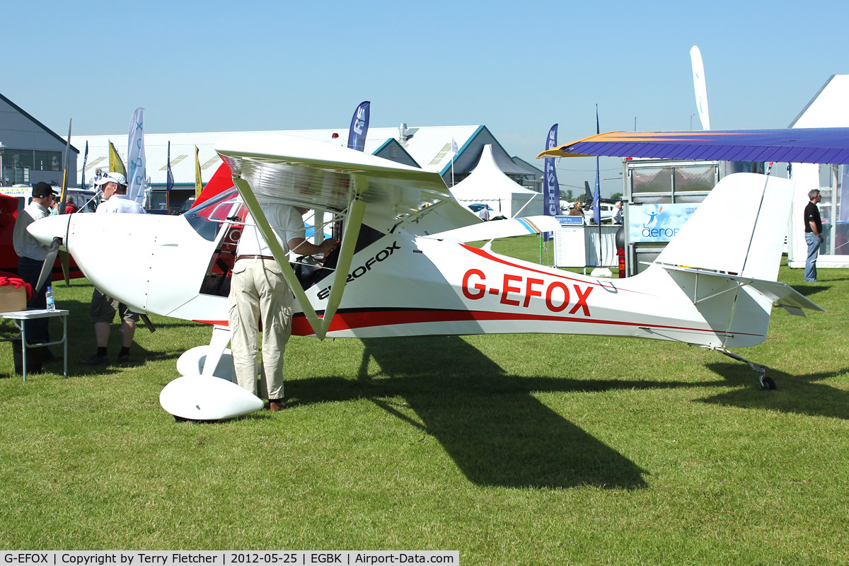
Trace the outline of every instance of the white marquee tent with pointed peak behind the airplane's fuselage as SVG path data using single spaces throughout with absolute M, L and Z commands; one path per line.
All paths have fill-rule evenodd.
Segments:
M 489 144 L 484 146 L 475 170 L 454 185 L 451 192 L 461 205 L 489 205 L 494 210 L 492 216 L 533 216 L 542 214 L 543 210 L 543 195 L 521 188 L 519 183 L 504 175 L 495 163 Z M 525 206 L 528 201 L 531 204 Z

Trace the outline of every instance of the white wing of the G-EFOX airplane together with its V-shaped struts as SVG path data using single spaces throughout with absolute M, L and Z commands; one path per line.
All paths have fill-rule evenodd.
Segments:
M 363 223 L 389 233 L 398 217 L 413 224 L 461 227 L 478 221 L 461 207 L 435 171 L 424 171 L 353 149 L 301 137 L 242 135 L 216 143 L 216 152 L 233 172 L 233 182 L 256 221 L 306 320 L 319 339 L 327 333 L 345 292 L 347 274 Z M 345 233 L 322 317 L 312 307 L 262 211 L 262 202 L 279 202 L 344 216 Z M 422 205 L 432 204 L 422 208 Z M 444 210 L 448 207 L 449 210 Z M 432 220 L 422 221 L 424 217 Z M 426 233 L 426 230 L 422 228 Z

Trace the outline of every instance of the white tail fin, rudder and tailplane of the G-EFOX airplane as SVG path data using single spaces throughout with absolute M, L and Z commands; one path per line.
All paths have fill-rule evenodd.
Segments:
M 655 260 L 724 330 L 724 347 L 760 344 L 773 304 L 796 315 L 822 311 L 776 282 L 794 188 L 779 177 L 725 177 Z

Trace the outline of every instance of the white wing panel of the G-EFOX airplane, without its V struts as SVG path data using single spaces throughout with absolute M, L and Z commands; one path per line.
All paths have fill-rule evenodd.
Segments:
M 381 232 L 424 203 L 453 201 L 436 171 L 330 143 L 255 134 L 224 138 L 215 149 L 257 200 L 340 212 L 357 197 L 365 205 L 363 222 Z

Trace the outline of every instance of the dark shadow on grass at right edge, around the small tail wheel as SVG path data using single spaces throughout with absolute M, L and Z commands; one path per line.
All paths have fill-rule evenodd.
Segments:
M 739 406 L 745 409 L 767 409 L 799 415 L 849 419 L 849 391 L 817 383 L 823 379 L 849 373 L 849 368 L 807 375 L 790 375 L 790 373 L 769 368 L 767 376 L 775 380 L 777 389 L 764 391 L 750 386 L 756 373 L 749 367 L 722 362 L 710 363 L 707 367 L 725 378 L 728 385 L 739 385 L 739 389 L 708 397 L 701 400 L 702 402 Z

